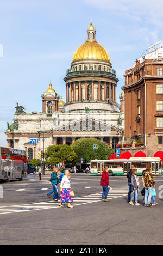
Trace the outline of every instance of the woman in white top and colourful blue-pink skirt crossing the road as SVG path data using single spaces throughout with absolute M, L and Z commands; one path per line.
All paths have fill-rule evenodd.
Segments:
M 60 183 L 61 197 L 59 206 L 64 207 L 62 203 L 68 203 L 68 208 L 73 208 L 73 206 L 70 204 L 72 203 L 72 198 L 70 196 L 71 180 L 69 178 L 70 172 L 69 170 L 65 170 L 65 175 L 63 176 L 62 181 Z

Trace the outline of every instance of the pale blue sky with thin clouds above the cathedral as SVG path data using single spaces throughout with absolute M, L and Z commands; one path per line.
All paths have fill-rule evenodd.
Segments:
M 0 0 L 0 145 L 7 145 L 16 102 L 41 112 L 50 80 L 65 101 L 63 78 L 91 19 L 116 70 L 118 99 L 124 71 L 163 41 L 162 8 L 162 0 Z

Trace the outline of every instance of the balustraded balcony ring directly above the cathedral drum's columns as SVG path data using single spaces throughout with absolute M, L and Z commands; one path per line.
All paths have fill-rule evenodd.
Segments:
M 94 75 L 94 76 L 108 76 L 116 77 L 116 71 L 112 70 L 111 72 L 101 71 L 101 70 L 80 70 L 80 71 L 71 71 L 67 70 L 67 77 L 70 76 L 85 76 L 85 75 Z

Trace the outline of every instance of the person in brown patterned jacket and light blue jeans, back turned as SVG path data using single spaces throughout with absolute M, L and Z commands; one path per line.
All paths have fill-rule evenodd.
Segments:
M 146 169 L 146 172 L 142 175 L 143 187 L 145 188 L 145 207 L 152 207 L 151 198 L 152 198 L 152 190 L 155 184 L 155 180 L 152 176 L 152 170 L 150 168 Z

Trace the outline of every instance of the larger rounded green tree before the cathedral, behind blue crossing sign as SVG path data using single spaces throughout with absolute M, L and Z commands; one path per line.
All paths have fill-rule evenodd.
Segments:
M 97 144 L 98 149 L 93 149 L 93 144 Z M 71 147 L 77 154 L 78 163 L 81 157 L 87 163 L 92 159 L 109 159 L 110 155 L 114 154 L 114 150 L 107 143 L 94 138 L 77 139 Z

